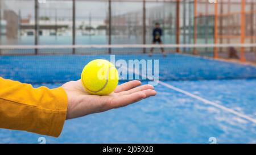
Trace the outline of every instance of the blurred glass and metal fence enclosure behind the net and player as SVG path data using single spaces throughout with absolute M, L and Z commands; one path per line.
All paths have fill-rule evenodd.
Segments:
M 253 0 L 1 0 L 0 44 L 151 44 L 156 22 L 163 29 L 164 44 L 255 43 L 255 4 Z M 214 56 L 222 51 L 214 49 Z M 239 51 L 245 61 L 243 53 L 255 49 Z

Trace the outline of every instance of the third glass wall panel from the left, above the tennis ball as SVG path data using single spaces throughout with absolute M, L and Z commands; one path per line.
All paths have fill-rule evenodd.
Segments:
M 76 1 L 76 44 L 108 44 L 108 1 Z

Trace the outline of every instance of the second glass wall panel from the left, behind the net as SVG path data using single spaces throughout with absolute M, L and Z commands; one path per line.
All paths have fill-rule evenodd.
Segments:
M 39 44 L 72 44 L 72 1 L 39 3 Z

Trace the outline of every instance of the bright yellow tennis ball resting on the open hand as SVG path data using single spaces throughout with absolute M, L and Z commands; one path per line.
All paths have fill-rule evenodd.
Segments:
M 118 72 L 111 62 L 97 59 L 85 65 L 81 81 L 89 94 L 108 95 L 117 87 Z

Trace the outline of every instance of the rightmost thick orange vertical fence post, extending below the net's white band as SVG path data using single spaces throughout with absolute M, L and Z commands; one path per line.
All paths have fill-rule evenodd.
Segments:
M 241 44 L 245 43 L 245 0 L 241 1 Z M 241 47 L 240 61 L 245 62 L 245 47 Z

